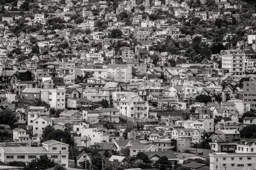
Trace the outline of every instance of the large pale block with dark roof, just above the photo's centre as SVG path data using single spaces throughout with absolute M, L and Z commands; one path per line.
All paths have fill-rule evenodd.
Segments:
M 132 67 L 130 65 L 111 64 L 107 68 L 108 79 L 124 83 L 129 83 L 132 79 Z

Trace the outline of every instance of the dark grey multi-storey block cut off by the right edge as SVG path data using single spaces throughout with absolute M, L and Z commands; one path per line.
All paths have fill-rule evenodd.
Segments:
M 249 102 L 252 109 L 256 109 L 256 80 L 251 77 L 243 82 L 243 100 Z

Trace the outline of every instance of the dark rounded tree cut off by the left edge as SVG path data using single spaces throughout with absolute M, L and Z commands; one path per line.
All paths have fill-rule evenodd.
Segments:
M 0 112 L 0 124 L 8 124 L 11 128 L 17 122 L 16 115 L 10 109 L 4 109 Z

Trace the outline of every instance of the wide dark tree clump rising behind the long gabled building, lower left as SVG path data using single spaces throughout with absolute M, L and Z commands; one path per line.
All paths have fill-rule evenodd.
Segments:
M 61 130 L 55 130 L 53 126 L 46 126 L 43 130 L 42 136 L 41 136 L 41 143 L 48 141 L 48 140 L 57 140 L 66 144 L 69 144 L 69 147 L 72 148 L 76 145 L 76 141 L 74 136 L 71 136 L 71 134 L 68 131 L 61 131 Z

